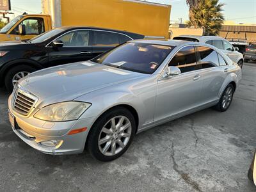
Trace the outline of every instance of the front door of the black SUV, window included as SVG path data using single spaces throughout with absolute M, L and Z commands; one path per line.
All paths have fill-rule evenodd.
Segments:
M 56 38 L 56 40 L 63 42 L 63 47 L 47 45 L 49 49 L 49 66 L 92 59 L 91 36 L 91 30 L 77 29 Z

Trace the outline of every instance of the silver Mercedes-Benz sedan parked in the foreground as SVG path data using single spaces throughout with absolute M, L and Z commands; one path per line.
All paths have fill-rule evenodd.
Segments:
M 46 154 L 88 148 L 110 161 L 138 132 L 211 106 L 226 111 L 240 79 L 241 68 L 212 45 L 135 40 L 20 79 L 8 100 L 10 122 Z

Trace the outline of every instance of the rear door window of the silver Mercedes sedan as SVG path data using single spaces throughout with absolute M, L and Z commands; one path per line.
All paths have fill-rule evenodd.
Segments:
M 198 46 L 201 68 L 219 66 L 218 53 L 209 47 Z

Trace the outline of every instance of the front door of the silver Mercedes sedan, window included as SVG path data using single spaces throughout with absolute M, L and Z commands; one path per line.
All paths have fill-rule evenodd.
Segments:
M 166 78 L 160 77 L 157 82 L 154 122 L 180 115 L 201 104 L 202 81 L 196 61 L 195 47 L 183 47 L 168 65 L 179 67 L 181 74 Z

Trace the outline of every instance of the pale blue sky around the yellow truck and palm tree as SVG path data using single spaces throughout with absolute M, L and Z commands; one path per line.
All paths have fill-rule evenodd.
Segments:
M 75 1 L 75 0 L 70 0 Z M 147 0 L 149 2 L 172 4 L 171 20 L 188 20 L 186 0 Z M 236 23 L 256 24 L 256 0 L 220 0 L 225 3 L 224 15 L 226 20 Z M 40 13 L 41 0 L 11 0 L 15 16 L 23 12 Z

